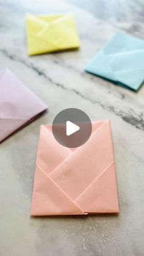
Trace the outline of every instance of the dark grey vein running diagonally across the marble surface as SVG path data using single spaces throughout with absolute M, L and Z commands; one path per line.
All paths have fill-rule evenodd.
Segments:
M 63 90 L 69 90 L 71 92 L 74 92 L 74 93 L 76 93 L 76 95 L 83 98 L 84 100 L 90 101 L 90 103 L 92 103 L 92 104 L 99 104 L 101 106 L 101 108 L 106 109 L 109 112 L 113 112 L 114 114 L 120 116 L 121 119 L 123 119 L 125 122 L 135 126 L 135 128 L 138 128 L 138 129 L 144 131 L 143 112 L 140 112 L 139 114 L 136 114 L 134 112 L 134 110 L 131 109 L 131 108 L 128 109 L 128 112 L 124 112 L 124 111 L 120 111 L 120 110 L 115 109 L 114 106 L 109 106 L 109 105 L 103 104 L 103 103 L 101 103 L 101 101 L 92 100 L 92 99 L 85 96 L 84 94 L 82 94 L 81 92 L 79 92 L 76 89 L 68 89 L 67 87 L 63 86 L 63 84 L 55 82 L 52 78 L 50 78 L 48 75 L 46 75 L 46 73 L 43 70 L 41 70 L 40 68 L 38 68 L 36 65 L 34 65 L 32 63 L 28 63 L 28 62 L 24 61 L 23 59 L 20 59 L 20 57 L 16 56 L 15 54 L 10 54 L 5 49 L 0 49 L 0 52 L 2 54 L 4 54 L 4 56 L 8 57 L 9 59 L 11 59 L 13 61 L 16 61 L 16 62 L 20 62 L 21 64 L 25 65 L 28 68 L 32 68 L 32 70 L 34 70 L 37 73 L 38 76 L 43 76 L 43 78 L 47 79 L 49 82 L 51 82 L 55 86 L 60 87 Z M 56 60 L 54 60 L 54 62 L 59 64 L 59 62 L 56 62 Z M 121 94 L 121 97 L 124 98 L 123 93 Z

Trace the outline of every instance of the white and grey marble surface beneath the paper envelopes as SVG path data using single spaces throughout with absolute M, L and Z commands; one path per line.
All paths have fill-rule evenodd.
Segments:
M 0 145 L 1 256 L 144 255 L 144 86 L 135 93 L 84 72 L 117 28 L 144 38 L 143 20 L 134 18 L 136 10 L 142 12 L 140 1 L 128 1 L 133 9 L 120 20 L 100 15 L 103 5 L 94 12 L 80 2 L 0 1 L 0 68 L 10 68 L 49 106 L 47 114 Z M 67 11 L 76 16 L 81 49 L 28 57 L 25 14 Z M 30 218 L 40 124 L 71 107 L 112 122 L 118 216 Z

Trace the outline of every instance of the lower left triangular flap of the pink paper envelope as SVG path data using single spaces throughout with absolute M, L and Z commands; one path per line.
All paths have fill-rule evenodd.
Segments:
M 31 215 L 84 214 L 65 193 L 37 166 L 35 169 Z

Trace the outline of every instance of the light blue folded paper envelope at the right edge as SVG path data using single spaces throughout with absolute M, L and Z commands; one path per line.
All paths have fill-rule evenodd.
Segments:
M 144 81 L 144 40 L 117 32 L 85 71 L 138 90 Z

